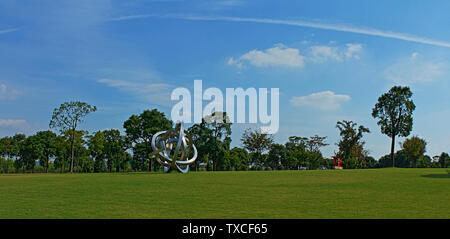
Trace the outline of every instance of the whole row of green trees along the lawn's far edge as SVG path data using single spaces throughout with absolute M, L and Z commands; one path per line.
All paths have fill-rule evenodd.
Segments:
M 194 171 L 221 170 L 299 170 L 331 169 L 337 158 L 348 169 L 378 167 L 449 167 L 447 153 L 425 155 L 427 142 L 412 136 L 395 148 L 395 137 L 406 137 L 412 130 L 415 105 L 408 87 L 394 86 L 379 97 L 372 110 L 381 132 L 391 138 L 391 153 L 378 160 L 365 149 L 364 134 L 370 130 L 353 121 L 336 123 L 341 139 L 334 158 L 325 158 L 321 148 L 326 136 L 291 136 L 284 144 L 274 143 L 273 135 L 246 130 L 242 147 L 231 148 L 231 123 L 226 112 L 214 112 L 187 130 L 198 149 Z M 107 129 L 89 134 L 79 125 L 97 110 L 85 102 L 66 102 L 53 112 L 49 123 L 54 131 L 34 135 L 16 134 L 0 138 L 0 173 L 9 172 L 128 172 L 160 171 L 152 158 L 151 139 L 173 122 L 157 109 L 144 110 L 123 123 L 124 134 Z

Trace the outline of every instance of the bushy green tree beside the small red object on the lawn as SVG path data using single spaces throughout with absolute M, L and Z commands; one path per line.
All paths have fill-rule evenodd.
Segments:
M 367 156 L 367 153 L 364 150 L 364 141 L 362 141 L 362 137 L 364 133 L 370 133 L 370 130 L 362 125 L 356 128 L 357 123 L 353 121 L 338 121 L 336 123 L 336 128 L 339 129 L 339 135 L 342 139 L 339 141 L 339 151 L 341 157 L 345 160 L 354 160 L 354 164 L 352 167 L 346 165 L 346 168 L 359 168 L 356 165 L 361 165 L 356 161 L 365 162 L 364 158 Z M 350 163 L 350 162 L 348 162 Z

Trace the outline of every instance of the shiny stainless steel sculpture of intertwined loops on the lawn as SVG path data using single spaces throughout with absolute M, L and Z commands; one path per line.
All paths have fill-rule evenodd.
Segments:
M 187 173 L 189 165 L 197 159 L 197 148 L 182 123 L 177 123 L 175 129 L 160 131 L 153 135 L 152 148 L 154 157 L 164 166 L 166 173 L 171 169 Z

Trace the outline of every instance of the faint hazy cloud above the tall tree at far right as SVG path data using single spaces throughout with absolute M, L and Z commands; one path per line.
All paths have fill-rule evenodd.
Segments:
M 384 76 L 398 84 L 432 82 L 444 74 L 445 63 L 421 59 L 414 52 L 409 58 L 402 59 L 386 68 Z

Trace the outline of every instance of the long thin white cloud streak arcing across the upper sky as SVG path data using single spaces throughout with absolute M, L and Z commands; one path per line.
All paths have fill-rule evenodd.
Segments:
M 143 15 L 130 15 L 130 16 L 116 17 L 116 18 L 110 19 L 110 21 L 124 21 L 124 20 L 138 19 L 138 18 L 172 18 L 172 19 L 183 19 L 183 20 L 191 20 L 191 21 L 254 22 L 254 23 L 265 23 L 265 24 L 289 25 L 289 26 L 297 26 L 297 27 L 308 27 L 308 28 L 315 28 L 315 29 L 340 31 L 340 32 L 351 32 L 351 33 L 356 33 L 356 34 L 398 39 L 398 40 L 422 43 L 422 44 L 427 44 L 427 45 L 450 47 L 450 42 L 429 39 L 429 38 L 415 36 L 415 35 L 406 34 L 406 33 L 384 31 L 384 30 L 378 30 L 378 29 L 366 28 L 366 27 L 354 27 L 354 26 L 341 25 L 341 24 L 320 23 L 320 22 L 302 21 L 302 20 L 280 20 L 280 19 L 271 19 L 271 18 L 246 18 L 246 17 L 227 17 L 227 16 L 143 14 Z

